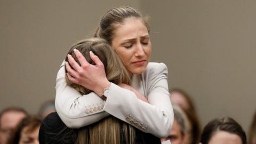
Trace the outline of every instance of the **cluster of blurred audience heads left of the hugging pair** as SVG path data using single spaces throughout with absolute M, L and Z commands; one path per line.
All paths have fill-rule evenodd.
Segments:
M 8 107 L 0 113 L 0 144 L 36 144 L 42 120 L 55 112 L 54 100 L 43 103 L 37 115 L 20 107 Z

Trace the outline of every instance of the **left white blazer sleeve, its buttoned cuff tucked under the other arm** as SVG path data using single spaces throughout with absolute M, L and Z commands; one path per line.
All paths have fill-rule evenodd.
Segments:
M 62 63 L 56 79 L 55 108 L 63 123 L 70 128 L 90 125 L 109 116 L 103 110 L 104 103 L 97 94 L 80 94 L 66 82 L 65 66 Z

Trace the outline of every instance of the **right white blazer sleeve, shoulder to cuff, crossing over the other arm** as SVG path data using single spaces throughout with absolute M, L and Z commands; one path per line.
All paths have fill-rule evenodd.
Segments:
M 149 103 L 137 99 L 129 90 L 111 84 L 103 109 L 144 132 L 164 138 L 169 135 L 174 119 L 167 85 L 167 67 L 163 63 L 150 65 L 142 74 Z

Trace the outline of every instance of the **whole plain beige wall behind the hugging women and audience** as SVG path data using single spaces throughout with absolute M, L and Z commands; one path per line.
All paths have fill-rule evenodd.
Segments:
M 187 90 L 203 124 L 231 116 L 247 130 L 255 110 L 255 1 L 0 1 L 0 110 L 37 113 L 53 99 L 69 46 L 92 34 L 103 13 L 130 5 L 148 14 L 152 61 L 170 87 Z

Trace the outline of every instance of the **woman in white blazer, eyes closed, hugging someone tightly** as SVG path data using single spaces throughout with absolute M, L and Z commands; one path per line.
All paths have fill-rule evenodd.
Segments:
M 67 77 L 93 92 L 82 95 L 67 85 L 64 64 L 57 75 L 55 107 L 62 121 L 79 128 L 112 115 L 139 130 L 166 137 L 173 123 L 173 110 L 164 63 L 149 62 L 151 43 L 147 22 L 131 7 L 116 7 L 103 15 L 94 35 L 105 39 L 122 59 L 131 77 L 131 86 L 110 83 L 99 58 L 90 53 L 90 65 L 75 51 L 65 62 Z

